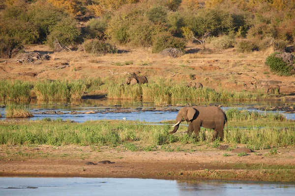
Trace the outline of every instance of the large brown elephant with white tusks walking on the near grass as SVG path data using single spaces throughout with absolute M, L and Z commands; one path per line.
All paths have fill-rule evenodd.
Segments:
M 212 141 L 217 138 L 218 134 L 220 139 L 223 140 L 223 129 L 225 123 L 227 123 L 227 117 L 225 112 L 217 106 L 190 106 L 181 108 L 176 117 L 177 123 L 173 125 L 174 129 L 169 133 L 175 133 L 179 127 L 179 123 L 182 121 L 189 123 L 187 128 L 188 135 L 191 135 L 195 131 L 196 138 L 198 138 L 202 126 L 214 130 Z

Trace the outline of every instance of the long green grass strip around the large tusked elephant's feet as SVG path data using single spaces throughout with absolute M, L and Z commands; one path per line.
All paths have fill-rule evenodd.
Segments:
M 224 143 L 231 146 L 244 144 L 253 150 L 295 146 L 294 122 L 274 120 L 265 124 L 266 121 L 263 118 L 265 117 L 260 118 L 261 121 L 243 120 L 238 123 L 230 121 L 231 125 L 225 128 Z M 180 126 L 176 134 L 170 135 L 171 124 L 149 125 L 128 121 L 91 121 L 79 124 L 41 121 L 16 126 L 8 123 L 0 126 L 0 144 L 116 147 L 125 143 L 140 142 L 142 145 L 140 149 L 155 149 L 157 146 L 172 144 L 212 145 L 211 129 L 201 128 L 197 140 L 194 134 L 189 137 L 181 133 L 186 129 L 186 126 Z

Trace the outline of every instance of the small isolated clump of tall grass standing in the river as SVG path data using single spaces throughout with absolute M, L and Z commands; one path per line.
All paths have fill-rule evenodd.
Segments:
M 28 108 L 24 105 L 10 104 L 5 108 L 6 118 L 28 118 L 33 117 Z

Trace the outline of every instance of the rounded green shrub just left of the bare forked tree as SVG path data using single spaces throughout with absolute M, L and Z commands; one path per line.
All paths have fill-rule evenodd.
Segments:
M 169 33 L 161 33 L 154 37 L 153 45 L 151 47 L 152 53 L 157 53 L 168 48 L 176 48 L 184 51 L 185 42 L 183 39 L 173 37 Z

